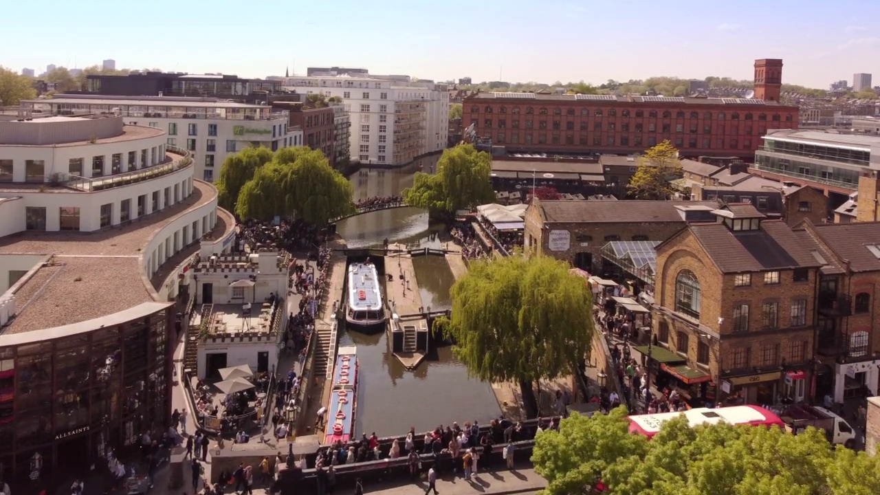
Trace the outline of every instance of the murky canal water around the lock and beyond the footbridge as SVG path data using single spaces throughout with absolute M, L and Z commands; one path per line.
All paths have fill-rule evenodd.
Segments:
M 437 157 L 416 162 L 401 171 L 363 169 L 349 179 L 355 198 L 397 196 L 413 183 L 414 172 L 430 172 Z M 443 225 L 429 222 L 428 214 L 414 208 L 373 211 L 342 220 L 336 232 L 349 247 L 391 242 L 413 247 L 441 247 L 448 240 Z M 433 235 L 432 235 L 433 234 Z M 439 235 L 438 235 L 439 234 Z M 455 278 L 444 256 L 413 259 L 422 305 L 435 309 L 450 307 L 450 288 Z M 450 347 L 439 347 L 414 371 L 400 366 L 388 348 L 385 332 L 368 335 L 346 329 L 340 345 L 356 345 L 360 364 L 357 393 L 356 431 L 378 436 L 401 434 L 414 426 L 426 432 L 437 425 L 477 420 L 481 424 L 500 414 L 495 394 L 488 383 L 475 380 L 452 356 Z

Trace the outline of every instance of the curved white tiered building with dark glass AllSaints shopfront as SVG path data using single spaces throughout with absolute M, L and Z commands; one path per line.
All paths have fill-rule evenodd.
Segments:
M 165 422 L 189 269 L 235 243 L 216 188 L 164 129 L 18 111 L 0 122 L 4 479 L 33 454 L 41 476 L 86 469 Z

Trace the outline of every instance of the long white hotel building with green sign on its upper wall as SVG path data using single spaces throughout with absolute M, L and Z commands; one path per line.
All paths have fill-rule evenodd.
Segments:
M 287 112 L 216 98 L 64 94 L 23 105 L 49 115 L 120 115 L 126 124 L 162 129 L 165 144 L 187 150 L 194 177 L 208 182 L 219 176 L 228 154 L 247 146 L 276 151 L 303 145 L 303 131 L 290 127 Z

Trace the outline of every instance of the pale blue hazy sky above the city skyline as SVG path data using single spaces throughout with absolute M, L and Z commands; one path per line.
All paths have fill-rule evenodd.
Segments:
M 751 79 L 781 58 L 784 83 L 880 84 L 876 0 L 43 0 L 4 5 L 0 65 L 304 74 L 367 68 L 474 82 L 675 76 Z M 18 41 L 16 41 L 18 40 Z

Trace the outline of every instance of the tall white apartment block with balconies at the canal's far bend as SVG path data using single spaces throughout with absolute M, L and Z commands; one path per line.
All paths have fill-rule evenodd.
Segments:
M 352 160 L 405 165 L 446 147 L 449 92 L 446 85 L 409 82 L 406 76 L 326 75 L 284 78 L 299 93 L 338 96 L 351 119 Z

